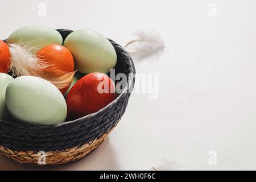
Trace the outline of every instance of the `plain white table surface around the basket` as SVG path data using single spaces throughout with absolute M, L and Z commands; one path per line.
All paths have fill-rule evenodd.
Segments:
M 46 17 L 38 4 L 46 4 Z M 216 16 L 209 16 L 216 3 Z M 91 28 L 124 46 L 138 30 L 166 43 L 135 61 L 159 73 L 159 98 L 134 93 L 108 139 L 75 163 L 38 168 L 0 155 L 0 169 L 256 169 L 256 1 L 0 1 L 0 39 L 42 24 Z M 139 84 L 135 85 L 140 86 Z M 211 165 L 209 151 L 216 152 Z

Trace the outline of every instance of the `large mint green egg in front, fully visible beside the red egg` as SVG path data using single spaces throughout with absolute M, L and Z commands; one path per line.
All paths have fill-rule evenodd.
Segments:
M 51 82 L 34 76 L 20 76 L 6 89 L 6 105 L 11 116 L 24 123 L 55 125 L 64 122 L 67 105 Z

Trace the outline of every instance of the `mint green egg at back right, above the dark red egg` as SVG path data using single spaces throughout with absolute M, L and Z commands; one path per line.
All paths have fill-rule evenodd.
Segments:
M 105 36 L 93 30 L 77 30 L 67 36 L 64 47 L 71 51 L 81 73 L 108 73 L 117 63 L 117 53 Z

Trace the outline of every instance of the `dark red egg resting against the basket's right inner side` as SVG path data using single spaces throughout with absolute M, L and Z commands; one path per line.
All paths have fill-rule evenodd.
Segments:
M 113 81 L 104 73 L 90 73 L 82 77 L 66 98 L 67 120 L 95 113 L 115 100 Z

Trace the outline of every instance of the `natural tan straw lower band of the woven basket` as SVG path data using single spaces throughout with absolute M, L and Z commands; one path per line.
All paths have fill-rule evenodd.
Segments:
M 97 148 L 107 137 L 104 134 L 101 138 L 94 140 L 91 144 L 84 144 L 83 146 L 68 148 L 61 151 L 49 151 L 44 154 L 45 163 L 42 162 L 42 153 L 34 151 L 13 151 L 9 148 L 0 146 L 0 153 L 6 155 L 20 164 L 34 164 L 36 166 L 45 166 L 47 164 L 64 164 L 83 158 L 86 154 Z M 41 161 L 41 162 L 39 162 Z

